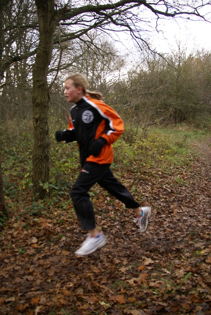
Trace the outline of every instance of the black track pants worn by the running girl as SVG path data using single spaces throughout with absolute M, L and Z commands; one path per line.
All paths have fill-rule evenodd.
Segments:
M 89 189 L 96 183 L 123 202 L 126 208 L 140 206 L 130 191 L 113 176 L 110 164 L 87 162 L 70 191 L 76 215 L 85 230 L 92 230 L 96 226 L 94 210 L 88 194 Z

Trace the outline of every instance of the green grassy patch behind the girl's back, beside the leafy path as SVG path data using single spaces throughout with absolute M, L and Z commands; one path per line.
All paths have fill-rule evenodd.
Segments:
M 141 133 L 130 144 L 119 138 L 114 147 L 114 167 L 135 171 L 140 165 L 165 167 L 183 165 L 192 160 L 192 142 L 210 136 L 208 129 L 197 129 L 184 124 L 174 127 L 151 127 L 146 138 Z

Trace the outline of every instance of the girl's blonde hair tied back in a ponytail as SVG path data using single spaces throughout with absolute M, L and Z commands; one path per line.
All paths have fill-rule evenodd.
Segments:
M 66 78 L 66 80 L 68 79 L 71 79 L 73 81 L 73 85 L 76 88 L 81 87 L 84 94 L 88 94 L 91 98 L 103 100 L 102 93 L 88 90 L 89 83 L 84 75 L 80 73 L 72 73 Z

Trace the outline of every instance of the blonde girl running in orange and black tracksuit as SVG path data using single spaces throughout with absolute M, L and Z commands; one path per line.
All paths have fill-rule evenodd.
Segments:
M 150 207 L 141 207 L 133 196 L 114 176 L 110 169 L 113 162 L 114 143 L 124 130 L 120 116 L 103 102 L 102 94 L 88 90 L 88 81 L 80 73 L 71 74 L 65 81 L 65 96 L 75 104 L 70 109 L 69 128 L 56 131 L 56 140 L 77 141 L 81 172 L 70 191 L 73 206 L 88 236 L 75 252 L 83 256 L 106 245 L 106 236 L 95 223 L 93 205 L 88 191 L 96 183 L 131 208 L 137 215 L 141 233 L 148 228 Z

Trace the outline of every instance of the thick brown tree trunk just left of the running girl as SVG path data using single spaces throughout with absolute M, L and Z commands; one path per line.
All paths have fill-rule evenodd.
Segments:
M 33 67 L 33 195 L 43 199 L 46 190 L 40 186 L 49 180 L 48 66 L 57 25 L 54 0 L 35 0 L 39 25 L 39 46 Z

